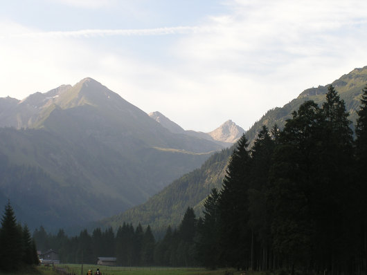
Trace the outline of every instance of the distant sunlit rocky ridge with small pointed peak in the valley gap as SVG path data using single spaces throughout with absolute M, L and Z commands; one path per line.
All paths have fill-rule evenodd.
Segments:
M 243 133 L 245 133 L 244 129 L 236 125 L 234 122 L 232 122 L 232 120 L 227 120 L 224 122 L 224 124 L 209 133 L 203 133 L 192 130 L 185 131 L 181 128 L 181 126 L 179 126 L 179 124 L 172 122 L 172 120 L 159 112 L 152 112 L 149 114 L 149 116 L 172 133 L 183 133 L 195 138 L 211 140 L 217 144 L 221 144 L 224 147 L 232 146 L 232 144 L 235 143 Z

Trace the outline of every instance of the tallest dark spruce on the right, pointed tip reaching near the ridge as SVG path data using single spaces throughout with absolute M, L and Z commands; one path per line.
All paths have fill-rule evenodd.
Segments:
M 350 258 L 352 236 L 355 229 L 356 184 L 353 180 L 355 167 L 352 151 L 352 130 L 345 104 L 330 85 L 326 102 L 322 106 L 323 145 L 319 151 L 319 189 L 321 197 L 316 202 L 316 226 L 323 238 L 316 241 L 317 251 L 324 253 L 325 268 L 348 269 L 344 259 Z M 343 207 L 341 207 L 343 205 Z

